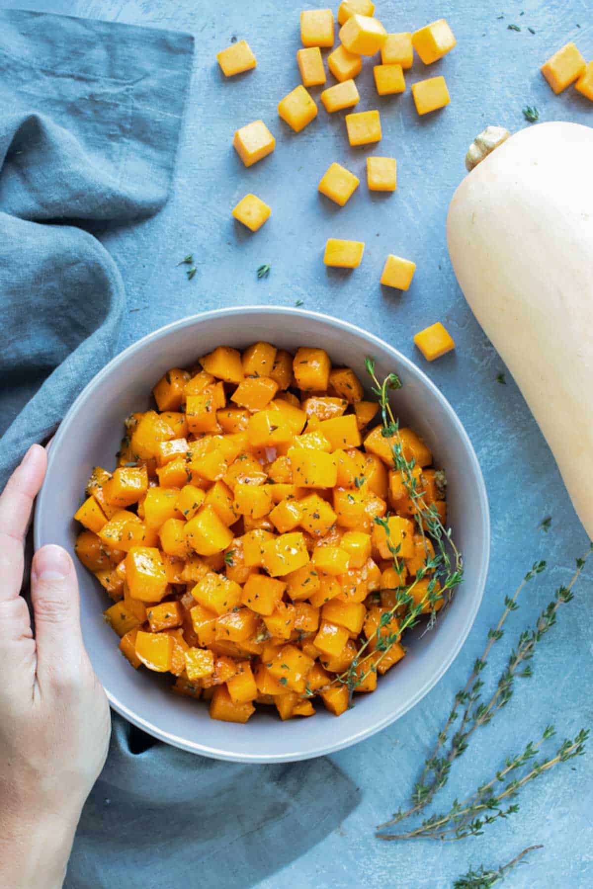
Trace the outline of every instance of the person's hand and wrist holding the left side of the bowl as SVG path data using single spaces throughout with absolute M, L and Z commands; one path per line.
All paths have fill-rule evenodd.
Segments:
M 62 885 L 84 800 L 107 757 L 108 701 L 84 651 L 66 550 L 31 567 L 35 637 L 19 595 L 47 458 L 33 445 L 0 495 L 0 886 Z

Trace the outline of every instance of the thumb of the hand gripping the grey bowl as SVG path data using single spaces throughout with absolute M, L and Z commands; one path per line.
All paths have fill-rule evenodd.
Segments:
M 37 550 L 31 565 L 31 602 L 39 684 L 76 680 L 84 645 L 76 570 L 65 549 L 49 545 Z

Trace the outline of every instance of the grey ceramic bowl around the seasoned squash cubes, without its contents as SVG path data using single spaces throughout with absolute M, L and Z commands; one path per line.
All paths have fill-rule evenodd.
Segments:
M 381 677 L 373 694 L 356 696 L 340 718 L 321 705 L 309 719 L 281 723 L 276 711 L 256 713 L 247 725 L 216 722 L 202 703 L 168 690 L 167 677 L 133 670 L 101 620 L 108 600 L 92 575 L 76 565 L 84 642 L 111 706 L 162 741 L 207 757 L 237 762 L 290 762 L 318 757 L 368 738 L 394 722 L 443 676 L 476 618 L 490 547 L 488 502 L 469 438 L 438 389 L 395 348 L 336 318 L 292 308 L 229 308 L 185 318 L 151 333 L 113 359 L 76 398 L 62 421 L 36 505 L 35 543 L 59 543 L 74 552 L 76 522 L 93 466 L 111 468 L 124 417 L 147 409 L 150 389 L 172 364 L 192 364 L 217 345 L 244 348 L 269 340 L 280 348 L 321 346 L 334 364 L 349 364 L 365 380 L 365 356 L 380 377 L 395 371 L 404 387 L 394 393 L 397 414 L 424 437 L 448 479 L 449 522 L 461 549 L 465 579 L 437 628 L 406 637 L 409 652 Z M 75 559 L 76 561 L 76 559 Z M 265 708 L 263 709 L 265 711 Z

